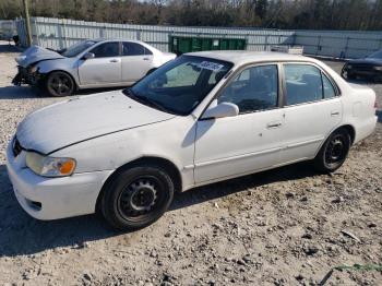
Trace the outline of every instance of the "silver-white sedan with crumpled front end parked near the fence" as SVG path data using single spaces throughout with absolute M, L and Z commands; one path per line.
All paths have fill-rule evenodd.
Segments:
M 89 39 L 61 51 L 33 46 L 16 58 L 13 83 L 40 85 L 52 96 L 68 96 L 80 88 L 132 85 L 175 58 L 127 39 Z

